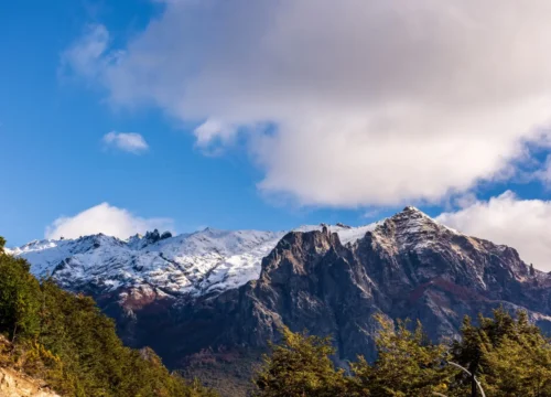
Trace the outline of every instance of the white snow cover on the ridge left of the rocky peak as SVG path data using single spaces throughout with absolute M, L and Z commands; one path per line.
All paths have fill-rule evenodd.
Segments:
M 296 230 L 322 229 L 324 225 Z M 344 243 L 375 225 L 327 226 Z M 77 239 L 35 240 L 11 250 L 31 264 L 36 277 L 52 276 L 69 290 L 94 294 L 121 290 L 196 298 L 217 294 L 258 279 L 260 262 L 287 232 L 204 230 L 173 237 L 158 230 L 127 240 L 102 234 Z

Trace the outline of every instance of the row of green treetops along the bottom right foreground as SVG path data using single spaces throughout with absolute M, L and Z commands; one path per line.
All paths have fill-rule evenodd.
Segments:
M 461 342 L 430 343 L 418 324 L 382 316 L 377 339 L 378 358 L 370 365 L 359 357 L 349 373 L 337 369 L 328 339 L 283 330 L 283 342 L 255 383 L 258 397 L 419 397 L 440 393 L 449 397 L 477 396 L 472 379 L 447 365 L 455 362 L 474 372 L 488 397 L 551 396 L 551 343 L 528 322 L 525 312 L 514 319 L 503 309 L 493 319 L 465 319 Z

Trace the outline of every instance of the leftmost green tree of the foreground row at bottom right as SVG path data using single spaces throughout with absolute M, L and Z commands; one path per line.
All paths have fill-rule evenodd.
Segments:
M 258 373 L 258 397 L 348 396 L 344 371 L 336 371 L 329 356 L 335 354 L 328 337 L 293 333 L 282 329 L 283 342 L 272 345 L 271 356 Z

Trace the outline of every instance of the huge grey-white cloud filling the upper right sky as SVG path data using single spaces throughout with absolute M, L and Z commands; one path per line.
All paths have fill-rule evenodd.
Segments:
M 203 124 L 202 147 L 246 133 L 266 193 L 440 202 L 549 141 L 550 18 L 549 0 L 168 1 L 122 50 L 90 28 L 66 64 L 117 106 Z

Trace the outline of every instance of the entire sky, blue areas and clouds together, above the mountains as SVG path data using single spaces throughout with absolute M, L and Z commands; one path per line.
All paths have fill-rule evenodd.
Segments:
M 413 204 L 529 247 L 504 230 L 550 232 L 548 43 L 515 56 L 500 37 L 517 24 L 534 26 L 514 30 L 522 43 L 543 35 L 545 2 L 505 25 L 457 6 L 490 33 L 436 23 L 443 47 L 413 22 L 446 21 L 445 10 L 400 10 L 396 22 L 385 18 L 395 3 L 374 19 L 353 0 L 3 2 L 0 233 L 24 244 L 101 203 L 143 221 L 115 228 L 125 233 L 158 218 L 177 232 L 360 225 Z M 128 133 L 141 147 L 125 146 Z

